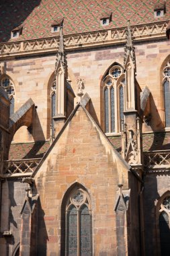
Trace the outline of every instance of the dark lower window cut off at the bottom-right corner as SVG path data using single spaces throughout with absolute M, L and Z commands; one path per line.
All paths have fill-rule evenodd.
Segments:
M 161 256 L 167 256 L 167 252 L 170 251 L 170 196 L 167 196 L 165 199 L 163 199 L 159 212 Z

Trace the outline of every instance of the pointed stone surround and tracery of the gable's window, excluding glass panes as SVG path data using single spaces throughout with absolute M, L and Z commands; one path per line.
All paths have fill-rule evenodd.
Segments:
M 78 198 L 78 199 L 77 199 Z M 74 201 L 75 200 L 75 201 Z M 67 255 L 66 254 L 66 250 L 68 250 L 68 212 L 71 212 L 71 207 L 78 207 L 77 208 L 77 214 L 78 216 L 81 216 L 81 214 L 79 213 L 82 212 L 81 207 L 86 207 L 87 211 L 89 211 L 89 214 L 87 214 L 89 217 L 89 237 L 90 237 L 90 251 L 89 251 L 89 255 L 91 255 L 92 253 L 92 225 L 91 225 L 91 199 L 89 197 L 89 193 L 87 191 L 87 189 L 81 185 L 80 183 L 74 183 L 73 185 L 71 185 L 71 187 L 69 187 L 69 189 L 67 189 L 64 197 L 62 198 L 62 205 L 61 205 L 61 250 L 60 250 L 60 256 L 62 255 Z M 76 209 L 75 208 L 75 209 Z M 76 215 L 77 215 L 76 214 Z M 79 225 L 79 218 L 81 217 L 77 217 L 77 225 Z M 81 230 L 81 228 L 79 228 L 79 230 Z M 81 231 L 79 231 L 81 232 Z M 77 243 L 80 243 L 79 239 L 80 239 L 81 234 L 77 234 Z M 78 245 L 79 247 L 79 245 Z M 79 251 L 79 249 L 77 249 L 77 251 Z M 69 254 L 68 254 L 69 255 Z M 78 255 L 77 253 L 75 253 L 75 256 Z

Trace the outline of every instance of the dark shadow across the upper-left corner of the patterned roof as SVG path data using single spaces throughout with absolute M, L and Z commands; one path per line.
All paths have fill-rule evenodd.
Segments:
M 41 0 L 1 0 L 1 34 L 0 42 L 7 42 L 11 38 L 11 30 L 22 25 Z

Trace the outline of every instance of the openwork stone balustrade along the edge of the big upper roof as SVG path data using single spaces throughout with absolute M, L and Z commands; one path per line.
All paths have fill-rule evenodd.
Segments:
M 165 39 L 168 22 L 132 26 L 131 30 L 134 42 Z M 87 49 L 103 45 L 124 44 L 125 42 L 126 28 L 117 28 L 65 36 L 65 50 L 75 51 L 77 49 Z M 56 53 L 56 49 L 58 49 L 58 37 L 1 43 L 0 60 L 6 59 L 7 57 Z

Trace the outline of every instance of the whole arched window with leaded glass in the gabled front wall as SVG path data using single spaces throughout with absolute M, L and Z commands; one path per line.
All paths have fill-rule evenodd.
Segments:
M 65 208 L 65 255 L 91 255 L 91 207 L 87 193 L 74 189 Z

